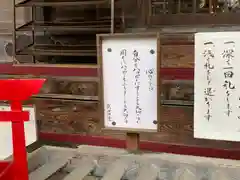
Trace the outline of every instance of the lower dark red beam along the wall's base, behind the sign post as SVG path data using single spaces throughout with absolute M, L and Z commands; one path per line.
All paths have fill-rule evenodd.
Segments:
M 125 148 L 125 140 L 113 139 L 109 137 L 89 136 L 89 135 L 65 135 L 54 133 L 40 133 L 40 139 L 57 142 L 69 142 L 76 144 L 87 144 L 95 146 L 107 146 L 115 148 Z M 140 142 L 140 149 L 152 152 L 166 152 L 183 155 L 216 157 L 225 159 L 240 160 L 239 150 L 201 148 L 184 145 L 162 144 L 156 142 Z

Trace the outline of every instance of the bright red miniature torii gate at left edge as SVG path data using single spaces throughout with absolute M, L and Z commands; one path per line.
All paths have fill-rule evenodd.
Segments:
M 0 180 L 28 180 L 24 122 L 29 121 L 29 112 L 22 110 L 22 102 L 38 94 L 44 81 L 44 79 L 0 80 L 0 100 L 9 101 L 11 107 L 11 111 L 0 111 L 0 122 L 12 122 L 13 143 L 13 160 L 0 161 Z

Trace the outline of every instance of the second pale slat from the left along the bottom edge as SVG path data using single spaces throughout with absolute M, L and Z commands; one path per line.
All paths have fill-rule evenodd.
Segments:
M 95 166 L 92 158 L 84 158 L 79 162 L 77 168 L 70 172 L 63 180 L 82 180 L 95 168 Z

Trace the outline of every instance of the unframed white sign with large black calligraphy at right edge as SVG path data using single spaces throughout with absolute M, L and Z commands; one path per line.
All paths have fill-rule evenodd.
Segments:
M 240 32 L 195 35 L 194 137 L 240 141 Z

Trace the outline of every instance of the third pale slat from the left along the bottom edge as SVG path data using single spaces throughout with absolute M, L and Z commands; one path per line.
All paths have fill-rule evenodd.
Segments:
M 115 161 L 106 170 L 106 174 L 103 176 L 102 180 L 121 180 L 125 171 L 127 170 L 129 161 L 126 159 L 119 159 Z

